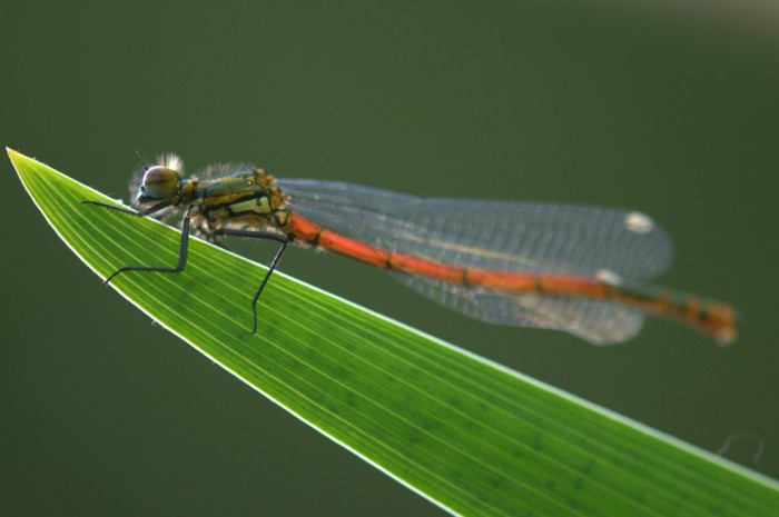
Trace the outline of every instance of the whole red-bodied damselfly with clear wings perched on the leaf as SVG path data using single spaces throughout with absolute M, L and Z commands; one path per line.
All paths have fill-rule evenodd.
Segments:
M 180 272 L 189 231 L 279 243 L 252 300 L 257 300 L 289 242 L 334 251 L 383 268 L 415 291 L 464 315 L 501 325 L 560 329 L 598 344 L 632 338 L 644 314 L 667 316 L 713 335 L 736 336 L 730 306 L 648 286 L 671 261 L 662 228 L 637 211 L 609 208 L 422 199 L 339 181 L 276 179 L 247 166 L 211 166 L 185 178 L 174 155 L 145 167 L 131 183 L 135 216 L 179 215 L 176 267 L 127 271 Z

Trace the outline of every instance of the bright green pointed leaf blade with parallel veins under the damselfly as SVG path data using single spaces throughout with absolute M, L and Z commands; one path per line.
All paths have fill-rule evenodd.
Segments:
M 9 150 L 60 238 L 101 278 L 172 266 L 179 232 Z M 779 484 L 193 239 L 178 275 L 121 296 L 323 435 L 462 515 L 773 516 Z M 262 445 L 255 445 L 262 447 Z

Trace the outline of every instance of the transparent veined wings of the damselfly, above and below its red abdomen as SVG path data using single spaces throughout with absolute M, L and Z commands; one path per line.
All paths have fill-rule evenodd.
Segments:
M 639 212 L 574 205 L 422 199 L 353 183 L 278 180 L 290 208 L 323 227 L 391 251 L 466 268 L 640 282 L 664 271 L 671 243 Z M 641 312 L 623 306 L 473 289 L 394 275 L 467 316 L 558 328 L 595 344 L 624 341 Z

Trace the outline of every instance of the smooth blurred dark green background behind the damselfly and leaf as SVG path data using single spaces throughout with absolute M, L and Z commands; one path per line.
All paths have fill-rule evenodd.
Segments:
M 571 3 L 16 2 L 0 142 L 124 198 L 138 149 L 193 172 L 645 211 L 676 242 L 663 284 L 733 302 L 737 346 L 651 319 L 595 348 L 339 257 L 282 268 L 701 448 L 757 433 L 760 461 L 751 441 L 727 456 L 779 477 L 779 14 Z M 103 288 L 0 168 L 4 515 L 441 514 Z

